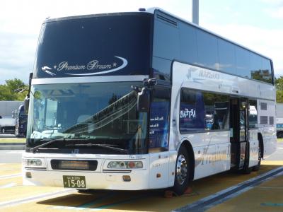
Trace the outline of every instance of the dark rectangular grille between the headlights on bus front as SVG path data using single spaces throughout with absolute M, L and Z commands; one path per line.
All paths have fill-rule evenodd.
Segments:
M 97 160 L 51 160 L 52 170 L 95 171 L 97 165 Z

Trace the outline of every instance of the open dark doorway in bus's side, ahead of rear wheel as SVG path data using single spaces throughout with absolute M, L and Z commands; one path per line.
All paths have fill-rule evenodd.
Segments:
M 241 169 L 248 147 L 248 100 L 231 98 L 230 112 L 231 167 Z

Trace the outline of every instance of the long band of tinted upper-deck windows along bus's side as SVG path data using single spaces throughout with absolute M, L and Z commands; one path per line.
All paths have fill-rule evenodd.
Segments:
M 161 20 L 160 16 L 166 19 Z M 173 60 L 273 83 L 270 59 L 158 12 L 154 20 L 154 76 L 171 78 Z

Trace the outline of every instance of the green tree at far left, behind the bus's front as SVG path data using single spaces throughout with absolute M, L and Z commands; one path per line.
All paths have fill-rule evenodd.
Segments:
M 18 93 L 16 89 L 23 89 L 25 91 Z M 4 85 L 0 85 L 0 100 L 4 101 L 23 101 L 25 95 L 27 95 L 28 85 L 25 85 L 23 81 L 18 78 L 12 80 L 6 80 Z

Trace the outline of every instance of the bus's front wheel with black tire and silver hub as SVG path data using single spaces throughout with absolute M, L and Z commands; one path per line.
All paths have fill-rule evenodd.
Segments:
M 190 182 L 190 161 L 185 146 L 181 146 L 176 160 L 173 192 L 182 195 Z

